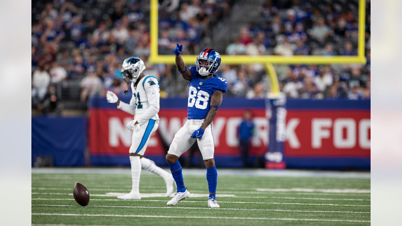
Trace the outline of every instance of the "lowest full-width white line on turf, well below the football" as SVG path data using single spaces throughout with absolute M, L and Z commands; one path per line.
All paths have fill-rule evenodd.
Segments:
M 119 214 L 47 214 L 32 213 L 45 216 L 88 216 L 88 217 L 132 217 L 132 218 L 197 218 L 197 219 L 228 219 L 228 220 L 288 220 L 288 221 L 326 221 L 326 222 L 359 222 L 370 223 L 369 220 L 341 220 L 341 219 L 307 219 L 307 218 L 246 218 L 246 217 L 213 217 L 213 216 L 152 216 L 152 215 L 119 215 Z

